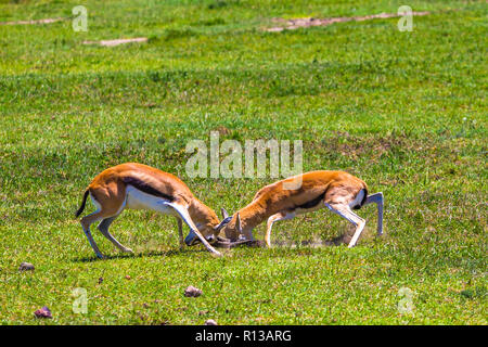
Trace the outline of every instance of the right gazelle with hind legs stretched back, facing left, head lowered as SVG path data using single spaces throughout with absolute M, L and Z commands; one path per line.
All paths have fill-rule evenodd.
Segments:
M 377 234 L 383 234 L 383 193 L 368 195 L 367 184 L 359 178 L 344 171 L 311 171 L 294 176 L 262 188 L 253 202 L 234 216 L 224 213 L 226 236 L 232 241 L 240 235 L 253 240 L 253 229 L 268 220 L 266 243 L 271 246 L 271 229 L 279 220 L 328 207 L 347 219 L 356 231 L 349 247 L 356 245 L 365 221 L 352 209 L 375 203 L 377 205 Z M 227 222 L 227 220 L 229 220 Z

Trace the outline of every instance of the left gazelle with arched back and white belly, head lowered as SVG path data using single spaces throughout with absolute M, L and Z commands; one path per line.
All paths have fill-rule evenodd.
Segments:
M 178 219 L 181 247 L 183 246 L 181 221 L 184 221 L 191 230 L 184 240 L 188 245 L 200 239 L 214 255 L 221 255 L 208 241 L 215 240 L 223 224 L 219 223 L 211 208 L 198 201 L 187 184 L 171 174 L 137 163 L 111 167 L 99 174 L 88 185 L 76 217 L 84 211 L 88 195 L 98 209 L 81 218 L 80 222 L 88 242 L 99 258 L 103 258 L 103 255 L 90 232 L 90 224 L 99 220 L 101 222 L 98 228 L 106 239 L 121 252 L 132 253 L 132 249 L 121 245 L 108 232 L 111 223 L 126 208 L 150 209 L 175 216 Z

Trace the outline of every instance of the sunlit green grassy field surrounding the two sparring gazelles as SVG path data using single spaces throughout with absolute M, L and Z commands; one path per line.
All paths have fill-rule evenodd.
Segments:
M 69 17 L 76 1 L 0 0 L 0 22 Z M 0 322 L 3 324 L 486 324 L 485 1 L 94 1 L 70 21 L 0 25 Z M 267 33 L 273 17 L 429 11 Z M 85 40 L 147 37 L 117 47 Z M 219 210 L 273 180 L 190 179 L 185 144 L 304 141 L 304 170 L 342 169 L 385 194 L 357 247 L 178 247 L 174 218 L 126 211 L 97 229 L 74 211 L 91 179 L 139 162 L 179 176 Z M 88 210 L 93 210 L 91 204 Z M 321 210 L 273 240 L 331 240 Z M 185 230 L 187 231 L 187 230 Z M 255 230 L 264 237 L 265 226 Z M 35 271 L 20 272 L 23 261 Z M 128 279 L 127 277 L 130 277 Z M 101 280 L 103 279 L 103 280 Z M 188 285 L 203 290 L 187 298 Z M 88 313 L 72 309 L 86 288 Z M 411 295 L 406 295 L 406 290 Z M 407 290 L 407 291 L 408 291 Z M 399 309 L 410 299 L 410 311 Z M 52 320 L 34 318 L 48 306 Z

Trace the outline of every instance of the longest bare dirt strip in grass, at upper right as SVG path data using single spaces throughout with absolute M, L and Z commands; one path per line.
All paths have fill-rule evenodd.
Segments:
M 412 15 L 427 15 L 429 12 L 412 12 Z M 344 23 L 344 22 L 362 22 L 362 21 L 370 21 L 375 18 L 391 18 L 391 17 L 398 17 L 399 14 L 397 13 L 378 13 L 378 14 L 371 14 L 371 15 L 364 15 L 364 16 L 355 16 L 355 17 L 332 17 L 332 18 L 292 18 L 292 20 L 284 20 L 284 18 L 273 18 L 273 22 L 281 23 L 282 26 L 277 26 L 272 28 L 266 28 L 265 31 L 282 31 L 282 30 L 293 30 L 298 28 L 307 28 L 311 26 L 328 26 L 334 23 Z

